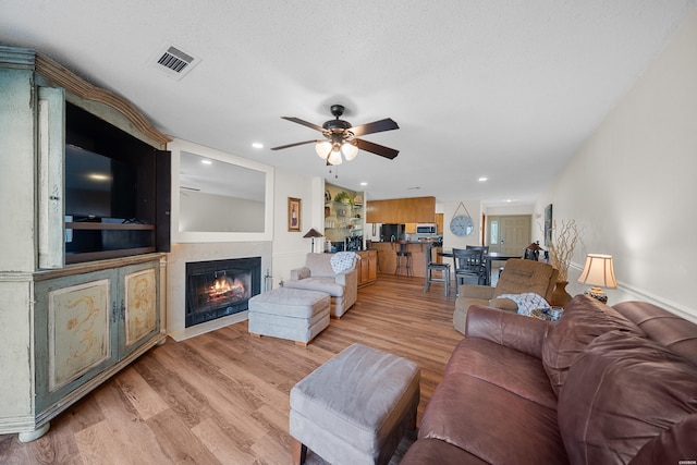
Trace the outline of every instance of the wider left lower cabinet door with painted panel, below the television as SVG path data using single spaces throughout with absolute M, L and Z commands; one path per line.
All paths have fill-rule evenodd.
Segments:
M 60 401 L 117 359 L 111 270 L 37 282 L 37 412 Z

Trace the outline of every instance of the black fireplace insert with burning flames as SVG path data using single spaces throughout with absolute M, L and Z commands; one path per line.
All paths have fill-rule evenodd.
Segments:
M 186 264 L 186 328 L 248 309 L 261 292 L 261 257 Z

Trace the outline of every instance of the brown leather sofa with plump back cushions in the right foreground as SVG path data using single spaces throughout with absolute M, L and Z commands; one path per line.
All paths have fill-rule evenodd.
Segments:
M 550 323 L 474 305 L 402 465 L 697 460 L 697 325 L 576 296 Z

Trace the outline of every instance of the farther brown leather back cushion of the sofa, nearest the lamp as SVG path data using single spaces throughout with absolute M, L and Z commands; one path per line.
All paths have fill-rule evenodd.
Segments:
M 586 345 L 612 330 L 645 335 L 614 308 L 592 297 L 577 295 L 566 304 L 561 318 L 550 327 L 542 343 L 542 364 L 558 396 L 568 368 L 580 357 Z

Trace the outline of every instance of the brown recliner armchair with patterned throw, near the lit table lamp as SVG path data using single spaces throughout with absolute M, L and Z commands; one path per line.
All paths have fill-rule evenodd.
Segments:
M 512 258 L 506 261 L 496 287 L 488 285 L 463 284 L 457 290 L 453 325 L 465 333 L 465 317 L 473 304 L 486 305 L 502 310 L 517 311 L 517 304 L 509 298 L 497 298 L 501 294 L 522 294 L 534 292 L 549 302 L 557 284 L 559 271 L 540 261 Z

